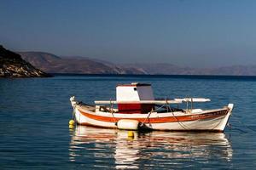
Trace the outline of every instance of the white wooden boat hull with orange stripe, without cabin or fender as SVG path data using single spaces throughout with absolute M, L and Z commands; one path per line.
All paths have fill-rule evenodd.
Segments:
M 74 107 L 76 121 L 81 125 L 117 128 L 122 119 L 137 120 L 143 128 L 170 131 L 213 131 L 223 132 L 229 121 L 233 105 L 216 110 L 183 113 L 181 111 L 150 114 L 120 114 L 102 111 L 87 111 L 83 105 Z M 170 120 L 170 121 L 168 121 Z

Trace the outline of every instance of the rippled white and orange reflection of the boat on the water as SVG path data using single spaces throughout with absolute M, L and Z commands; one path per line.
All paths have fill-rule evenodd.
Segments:
M 132 135 L 131 135 L 132 134 Z M 230 161 L 233 150 L 224 133 L 130 132 L 77 126 L 69 145 L 70 161 L 96 167 L 172 167 L 178 163 Z

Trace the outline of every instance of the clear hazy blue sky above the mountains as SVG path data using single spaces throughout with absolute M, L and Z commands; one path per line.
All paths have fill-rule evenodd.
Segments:
M 256 65 L 254 0 L 1 0 L 0 22 L 0 43 L 15 51 Z

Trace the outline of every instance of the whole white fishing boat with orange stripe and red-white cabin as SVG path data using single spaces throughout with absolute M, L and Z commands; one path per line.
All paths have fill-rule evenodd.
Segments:
M 116 100 L 88 105 L 73 96 L 70 101 L 77 124 L 127 130 L 224 132 L 234 107 L 202 110 L 195 103 L 211 99 L 154 99 L 151 84 L 138 82 L 117 85 Z

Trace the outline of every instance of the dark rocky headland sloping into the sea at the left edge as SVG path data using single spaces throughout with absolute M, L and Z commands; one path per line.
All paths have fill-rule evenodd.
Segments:
M 49 74 L 0 45 L 0 77 L 49 77 Z

